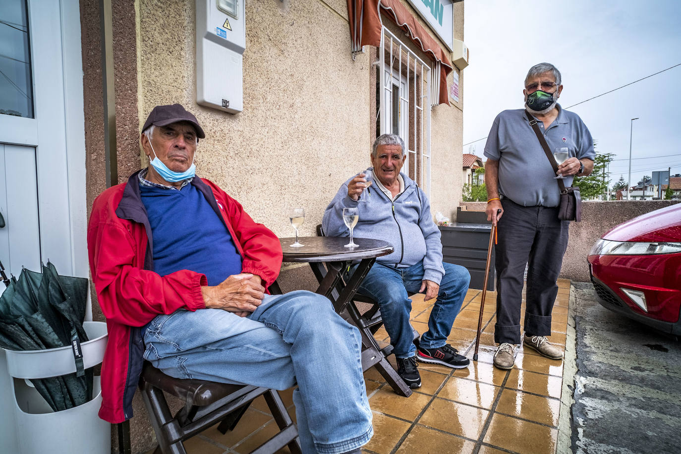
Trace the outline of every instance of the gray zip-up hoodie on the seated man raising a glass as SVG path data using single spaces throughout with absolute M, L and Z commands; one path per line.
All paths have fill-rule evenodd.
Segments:
M 440 284 L 445 269 L 442 266 L 442 242 L 440 230 L 432 221 L 430 202 L 416 183 L 400 172 L 405 180 L 405 192 L 390 201 L 373 184 L 367 189 L 370 197 L 362 193 L 362 202 L 347 195 L 349 178 L 331 201 L 321 226 L 327 236 L 350 236 L 350 229 L 343 223 L 343 208 L 359 208 L 360 219 L 353 236 L 385 240 L 395 248 L 390 255 L 378 257 L 383 265 L 408 267 L 424 262 L 424 279 Z M 366 201 L 364 201 L 366 200 Z

